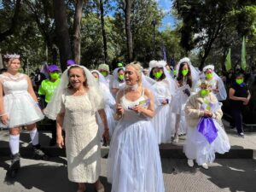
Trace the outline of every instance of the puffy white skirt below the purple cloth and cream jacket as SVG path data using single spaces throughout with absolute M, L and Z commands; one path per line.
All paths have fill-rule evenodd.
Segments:
M 197 126 L 188 128 L 186 142 L 183 152 L 189 160 L 195 160 L 201 166 L 204 163 L 212 163 L 215 160 L 215 153 L 224 154 L 230 150 L 230 140 L 224 128 L 213 119 L 218 130 L 218 137 L 210 144 L 201 132 L 197 131 Z

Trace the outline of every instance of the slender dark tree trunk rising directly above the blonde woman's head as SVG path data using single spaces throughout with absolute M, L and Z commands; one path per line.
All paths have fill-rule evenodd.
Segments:
M 126 44 L 128 50 L 128 61 L 132 61 L 133 47 L 132 47 L 132 33 L 131 33 L 131 0 L 125 0 L 125 33 Z

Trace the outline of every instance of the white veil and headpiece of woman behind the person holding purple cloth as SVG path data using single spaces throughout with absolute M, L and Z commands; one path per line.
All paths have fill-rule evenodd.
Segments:
M 227 98 L 227 91 L 226 88 L 224 86 L 224 82 L 223 80 L 218 76 L 217 73 L 214 72 L 214 66 L 212 65 L 208 65 L 206 67 L 203 68 L 203 73 L 201 74 L 201 78 L 202 79 L 206 79 L 206 75 L 205 72 L 207 71 L 207 69 L 211 69 L 212 70 L 212 74 L 213 74 L 213 79 L 218 81 L 218 93 L 215 94 L 218 98 L 218 101 L 224 101 Z

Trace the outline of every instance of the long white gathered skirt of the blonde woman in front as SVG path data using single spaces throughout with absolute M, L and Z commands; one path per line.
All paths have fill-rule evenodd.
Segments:
M 108 154 L 112 192 L 163 192 L 158 144 L 150 121 L 119 122 Z

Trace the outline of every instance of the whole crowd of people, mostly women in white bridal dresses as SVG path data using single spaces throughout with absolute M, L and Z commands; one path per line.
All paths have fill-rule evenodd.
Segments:
M 78 192 L 86 189 L 85 183 L 104 191 L 99 180 L 101 143 L 109 144 L 112 192 L 165 191 L 159 144 L 178 143 L 181 135 L 186 136 L 183 152 L 191 167 L 195 160 L 208 169 L 215 153 L 230 150 L 221 120 L 227 92 L 212 65 L 200 71 L 187 57 L 175 68 L 166 61 L 150 61 L 148 68 L 134 61 L 125 67 L 119 63 L 112 75 L 107 64 L 90 71 L 69 60 L 63 73 L 48 65 L 46 73 L 37 71 L 32 83 L 19 73 L 20 55 L 4 59 L 0 123 L 9 128 L 11 171 L 20 167 L 20 126 L 30 131 L 35 157 L 48 158 L 36 126 L 44 116 L 52 130 L 50 145 L 66 148 L 68 179 L 78 183 Z M 244 137 L 241 108 L 251 95 L 241 73 L 228 93 L 237 134 Z

